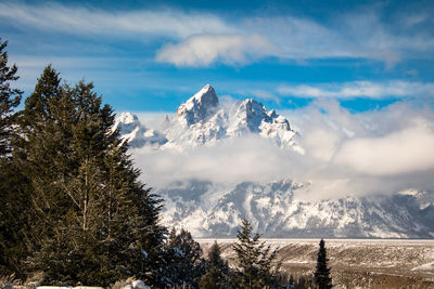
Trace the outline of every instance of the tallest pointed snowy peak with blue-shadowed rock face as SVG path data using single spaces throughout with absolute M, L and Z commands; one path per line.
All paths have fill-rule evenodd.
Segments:
M 176 117 L 187 127 L 208 120 L 218 107 L 216 91 L 206 84 L 178 107 Z

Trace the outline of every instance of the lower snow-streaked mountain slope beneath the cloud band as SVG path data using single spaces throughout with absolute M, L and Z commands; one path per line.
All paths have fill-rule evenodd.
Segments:
M 283 180 L 221 188 L 184 181 L 158 193 L 166 199 L 165 222 L 201 237 L 234 237 L 244 216 L 266 237 L 434 237 L 434 223 L 425 214 L 433 202 L 423 208 L 417 196 L 399 194 L 310 202 L 294 197 L 308 185 Z

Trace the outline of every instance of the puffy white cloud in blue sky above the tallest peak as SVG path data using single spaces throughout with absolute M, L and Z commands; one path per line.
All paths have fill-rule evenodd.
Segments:
M 276 48 L 259 35 L 199 35 L 158 51 L 156 61 L 176 66 L 208 66 L 215 62 L 239 65 L 267 55 Z

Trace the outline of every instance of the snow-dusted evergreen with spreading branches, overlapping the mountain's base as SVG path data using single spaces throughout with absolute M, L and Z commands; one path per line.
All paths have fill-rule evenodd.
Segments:
M 259 234 L 253 234 L 251 222 L 243 220 L 237 233 L 238 242 L 233 249 L 237 253 L 237 288 L 263 288 L 277 284 L 277 272 L 280 264 L 275 263 L 277 249 L 265 246 Z

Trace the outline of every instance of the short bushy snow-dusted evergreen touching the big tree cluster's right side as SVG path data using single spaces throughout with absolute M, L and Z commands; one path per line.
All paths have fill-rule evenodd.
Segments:
M 205 274 L 206 263 L 199 242 L 194 241 L 190 232 L 182 228 L 177 234 L 175 228 L 171 229 L 167 244 L 167 286 L 199 287 L 202 275 Z

